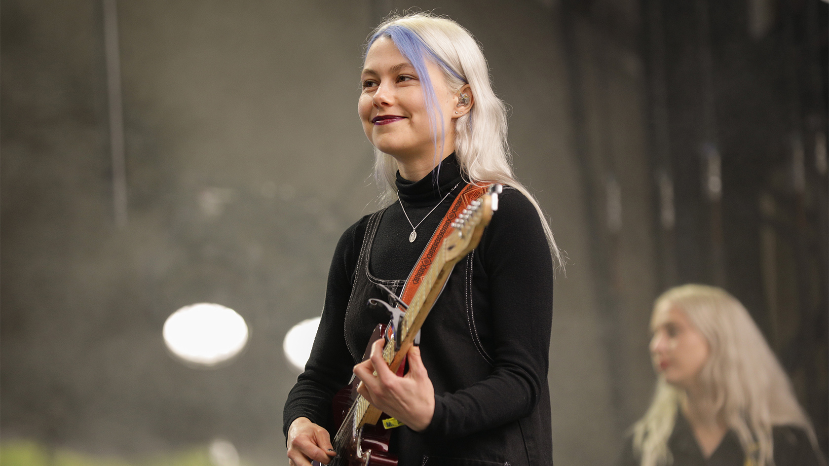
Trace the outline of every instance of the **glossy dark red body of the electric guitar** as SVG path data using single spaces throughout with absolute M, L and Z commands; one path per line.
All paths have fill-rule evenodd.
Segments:
M 371 357 L 371 345 L 382 338 L 385 333 L 385 324 L 378 324 L 371 333 L 366 352 L 363 354 L 363 361 Z M 334 425 L 342 425 L 348 418 L 348 412 L 357 398 L 357 385 L 360 380 L 356 377 L 351 385 L 337 392 L 332 400 L 332 415 Z M 381 416 L 388 417 L 388 416 Z M 351 432 L 351 439 L 343 444 L 342 451 L 337 451 L 337 457 L 333 458 L 329 466 L 397 466 L 397 457 L 389 453 L 391 430 L 383 427 L 382 421 L 376 425 L 363 425 L 360 430 Z M 319 463 L 314 461 L 313 466 Z

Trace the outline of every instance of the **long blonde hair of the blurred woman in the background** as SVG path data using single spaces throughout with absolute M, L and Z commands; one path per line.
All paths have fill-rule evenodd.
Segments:
M 743 451 L 754 452 L 755 464 L 774 463 L 774 425 L 805 430 L 817 449 L 812 424 L 797 403 L 788 376 L 742 303 L 724 289 L 686 284 L 662 294 L 652 316 L 671 308 L 685 313 L 707 340 L 710 356 L 700 371 L 700 382 L 721 419 L 737 434 Z M 642 455 L 642 466 L 672 463 L 667 441 L 684 396 L 659 376 L 650 407 L 633 425 L 633 447 Z

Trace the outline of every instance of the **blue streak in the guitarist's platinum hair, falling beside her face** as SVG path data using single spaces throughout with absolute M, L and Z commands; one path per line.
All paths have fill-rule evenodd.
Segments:
M 463 79 L 463 76 L 458 75 L 452 67 L 448 66 L 443 60 L 441 60 L 440 57 L 426 45 L 423 39 L 421 39 L 409 28 L 402 27 L 400 25 L 393 24 L 389 27 L 385 27 L 382 31 L 376 32 L 374 36 L 371 36 L 371 40 L 368 42 L 368 46 L 366 47 L 366 54 L 371 48 L 371 45 L 374 44 L 374 42 L 381 36 L 390 37 L 391 41 L 393 41 L 395 46 L 397 46 L 397 50 L 400 51 L 400 54 L 405 56 L 406 60 L 410 61 L 412 66 L 414 66 L 414 70 L 417 71 L 419 80 L 422 83 L 421 90 L 426 103 L 426 110 L 429 112 L 429 116 L 431 117 L 429 119 L 429 129 L 432 131 L 432 138 L 435 144 L 435 158 L 437 158 L 439 155 L 438 127 L 440 127 L 441 145 L 446 142 L 446 130 L 444 129 L 443 124 L 441 124 L 441 122 L 444 121 L 444 112 L 441 111 L 437 105 L 438 96 L 434 92 L 434 85 L 432 85 L 432 79 L 429 77 L 429 70 L 426 69 L 426 56 L 428 55 L 432 61 L 457 77 L 458 80 L 462 80 L 463 82 L 466 82 L 466 80 Z M 366 56 L 363 56 L 363 61 L 366 61 Z M 440 164 L 435 166 L 435 170 L 439 169 Z M 437 173 L 434 176 L 434 183 L 435 185 L 438 183 Z

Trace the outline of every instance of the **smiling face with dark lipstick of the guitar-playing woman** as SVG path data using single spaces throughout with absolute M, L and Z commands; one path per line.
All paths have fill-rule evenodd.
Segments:
M 448 89 L 443 72 L 426 61 L 437 104 L 443 111 L 446 144 L 439 156 L 454 150 L 454 125 L 451 124 L 458 96 Z M 361 74 L 362 93 L 357 111 L 369 141 L 399 162 L 434 158 L 434 141 L 429 128 L 429 112 L 424 102 L 422 82 L 410 61 L 400 54 L 388 37 L 380 37 L 366 54 Z M 438 133 L 440 134 L 440 133 Z M 438 138 L 440 143 L 440 138 Z M 447 150 L 448 149 L 448 150 Z

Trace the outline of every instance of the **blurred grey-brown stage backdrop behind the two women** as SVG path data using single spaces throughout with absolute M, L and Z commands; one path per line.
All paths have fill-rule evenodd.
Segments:
M 409 7 L 481 42 L 570 257 L 555 464 L 617 457 L 652 301 L 688 282 L 749 308 L 827 451 L 826 2 L 3 0 L 2 466 L 286 464 L 284 339 L 379 207 L 361 45 Z M 244 318 L 245 349 L 172 356 L 194 303 Z

